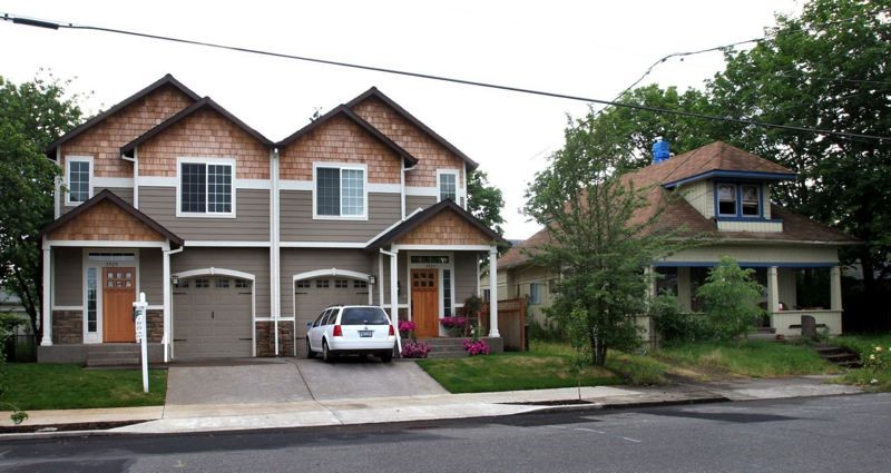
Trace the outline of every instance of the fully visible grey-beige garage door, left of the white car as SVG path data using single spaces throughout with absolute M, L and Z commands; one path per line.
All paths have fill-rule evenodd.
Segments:
M 252 290 L 246 279 L 180 279 L 174 287 L 176 358 L 252 356 Z

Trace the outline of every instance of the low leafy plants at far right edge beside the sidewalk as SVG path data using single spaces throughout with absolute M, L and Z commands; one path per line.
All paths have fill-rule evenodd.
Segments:
M 841 382 L 855 384 L 874 391 L 891 391 L 891 334 L 850 335 L 833 338 L 835 345 L 860 353 L 864 367 L 846 373 Z M 879 347 L 881 349 L 877 351 Z M 870 355 L 875 359 L 870 361 Z

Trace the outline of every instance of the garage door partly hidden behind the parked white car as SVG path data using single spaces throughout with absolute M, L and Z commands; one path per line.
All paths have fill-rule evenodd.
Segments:
M 365 305 L 369 285 L 365 280 L 343 277 L 320 277 L 294 283 L 297 336 L 306 336 L 306 323 L 315 321 L 322 309 L 332 305 Z

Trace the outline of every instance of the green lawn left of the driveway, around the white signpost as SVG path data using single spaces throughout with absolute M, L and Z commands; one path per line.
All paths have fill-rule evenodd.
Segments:
M 0 401 L 25 411 L 161 405 L 167 393 L 166 369 L 149 369 L 149 393 L 143 393 L 143 374 L 138 369 L 10 363 L 0 371 L 8 387 Z

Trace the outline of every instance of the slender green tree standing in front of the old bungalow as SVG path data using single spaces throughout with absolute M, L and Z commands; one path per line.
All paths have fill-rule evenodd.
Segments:
M 560 275 L 546 314 L 571 328 L 572 345 L 603 365 L 608 348 L 639 343 L 634 316 L 646 313 L 652 280 L 644 268 L 678 244 L 675 233 L 657 225 L 663 205 L 643 211 L 652 208 L 654 194 L 672 196 L 658 187 L 635 187 L 615 173 L 620 164 L 599 155 L 591 118 L 569 124 L 564 148 L 529 186 L 525 211 L 550 236 L 531 260 Z

